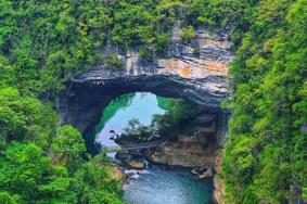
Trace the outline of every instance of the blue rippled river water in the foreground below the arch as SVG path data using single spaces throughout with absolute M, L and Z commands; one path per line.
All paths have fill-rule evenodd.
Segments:
M 131 204 L 212 204 L 212 181 L 200 180 L 189 170 L 151 166 L 124 186 Z

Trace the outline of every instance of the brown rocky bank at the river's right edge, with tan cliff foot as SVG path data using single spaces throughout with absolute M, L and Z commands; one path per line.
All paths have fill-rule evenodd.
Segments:
M 168 143 L 151 154 L 151 161 L 169 166 L 192 168 L 191 173 L 200 179 L 214 178 L 213 200 L 225 204 L 225 183 L 217 174 L 221 168 L 222 149 L 203 149 L 200 143 Z

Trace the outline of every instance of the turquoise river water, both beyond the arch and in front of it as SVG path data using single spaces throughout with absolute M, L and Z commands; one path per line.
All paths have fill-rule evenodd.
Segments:
M 137 118 L 150 125 L 153 115 L 164 114 L 168 99 L 153 93 L 129 93 L 113 100 L 103 111 L 100 123 L 86 137 L 88 150 L 93 146 L 117 145 L 111 140 L 111 130 L 123 132 L 128 122 Z M 95 143 L 95 144 L 94 144 Z M 114 158 L 114 153 L 108 154 Z M 210 204 L 212 181 L 195 178 L 189 169 L 165 168 L 149 165 L 146 169 L 132 171 L 124 186 L 125 201 L 131 204 Z

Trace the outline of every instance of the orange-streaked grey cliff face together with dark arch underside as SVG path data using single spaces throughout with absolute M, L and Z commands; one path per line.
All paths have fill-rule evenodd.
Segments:
M 72 124 L 85 131 L 97 123 L 102 110 L 115 97 L 149 91 L 190 100 L 217 114 L 219 125 L 226 127 L 222 124 L 227 114 L 219 109 L 219 104 L 229 95 L 226 77 L 233 55 L 229 51 L 231 43 L 228 42 L 228 35 L 221 31 L 209 35 L 207 29 L 199 28 L 197 37 L 190 44 L 183 44 L 178 38 L 178 28 L 174 28 L 169 49 L 151 62 L 140 58 L 138 48 L 123 52 L 114 46 L 105 47 L 102 55 L 105 58 L 116 53 L 123 68 L 106 71 L 101 64 L 77 74 L 67 94 L 57 100 L 61 123 Z M 226 131 L 227 128 L 217 130 L 220 144 Z

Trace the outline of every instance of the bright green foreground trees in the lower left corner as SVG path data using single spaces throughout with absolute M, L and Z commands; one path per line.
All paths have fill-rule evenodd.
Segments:
M 13 88 L 0 92 L 0 201 L 120 203 L 105 155 L 84 161 L 81 135 L 71 126 L 55 128 L 50 105 Z

